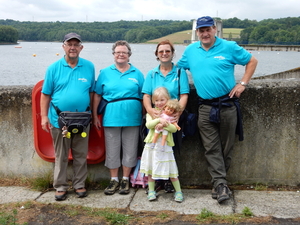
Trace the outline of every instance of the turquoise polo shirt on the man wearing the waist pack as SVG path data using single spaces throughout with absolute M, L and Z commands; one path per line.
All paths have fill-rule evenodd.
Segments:
M 95 85 L 94 64 L 79 58 L 72 68 L 65 58 L 54 62 L 46 71 L 42 93 L 51 96 L 51 102 L 61 111 L 84 112 L 90 106 L 90 93 Z M 58 115 L 50 104 L 50 123 L 58 126 Z

